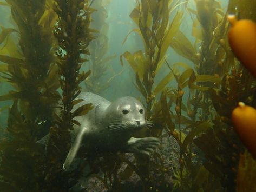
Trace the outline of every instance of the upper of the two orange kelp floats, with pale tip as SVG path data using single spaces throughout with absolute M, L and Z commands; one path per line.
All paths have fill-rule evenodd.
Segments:
M 235 56 L 256 77 L 256 23 L 250 19 L 237 21 L 228 15 L 232 27 L 228 31 L 228 41 Z

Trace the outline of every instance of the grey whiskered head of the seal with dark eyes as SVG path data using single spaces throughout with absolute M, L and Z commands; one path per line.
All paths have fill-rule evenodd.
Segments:
M 108 128 L 112 130 L 141 128 L 149 123 L 145 121 L 143 105 L 133 97 L 121 97 L 111 103 L 107 109 L 105 119 Z

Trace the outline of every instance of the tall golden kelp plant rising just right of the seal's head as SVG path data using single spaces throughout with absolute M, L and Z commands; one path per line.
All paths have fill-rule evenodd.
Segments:
M 136 87 L 141 92 L 146 103 L 146 118 L 150 118 L 153 121 L 150 133 L 142 133 L 140 136 L 152 135 L 159 137 L 165 128 L 165 123 L 162 121 L 164 117 L 161 114 L 161 102 L 156 101 L 156 96 L 165 89 L 166 85 L 172 80 L 173 75 L 170 72 L 158 84 L 154 82 L 169 44 L 179 30 L 182 21 L 182 12 L 174 11 L 178 3 L 180 2 L 172 0 L 141 0 L 137 1 L 137 7 L 130 14 L 130 17 L 138 27 L 133 31 L 140 35 L 144 50 L 139 50 L 133 54 L 127 51 L 121 55 L 120 59 L 122 62 L 122 58 L 126 58 L 134 70 Z M 169 20 L 171 13 L 174 16 L 172 21 Z M 170 122 L 170 120 L 168 121 Z M 159 178 L 162 183 L 166 174 L 161 171 L 165 170 L 162 156 L 161 154 L 156 154 L 154 158 L 157 163 L 152 164 L 154 164 L 156 170 L 162 173 L 160 174 L 162 176 L 161 179 Z M 136 173 L 140 176 L 144 189 L 148 190 L 150 187 L 155 189 L 154 186 L 159 184 L 156 184 L 155 178 L 149 175 L 149 158 L 142 155 L 137 156 L 136 163 L 138 165 Z M 163 186 L 165 185 L 163 184 Z M 166 189 L 168 186 L 164 188 Z

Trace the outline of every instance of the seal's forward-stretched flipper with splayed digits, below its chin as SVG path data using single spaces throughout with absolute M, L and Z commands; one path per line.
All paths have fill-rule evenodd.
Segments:
M 141 153 L 150 155 L 160 144 L 156 137 L 134 138 L 127 141 L 127 153 Z

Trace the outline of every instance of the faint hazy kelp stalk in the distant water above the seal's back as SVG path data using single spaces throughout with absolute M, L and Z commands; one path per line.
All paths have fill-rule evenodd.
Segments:
M 94 9 L 97 11 L 94 12 L 92 18 L 94 22 L 91 27 L 98 30 L 97 38 L 90 43 L 90 70 L 91 74 L 86 80 L 86 88 L 90 92 L 99 94 L 101 91 L 108 88 L 110 81 L 113 79 L 111 77 L 106 81 L 104 75 L 107 74 L 109 69 L 109 62 L 115 57 L 115 55 L 106 56 L 109 50 L 108 43 L 108 24 L 106 23 L 107 15 L 107 3 L 103 0 L 94 1 Z M 109 71 L 110 72 L 110 71 Z

